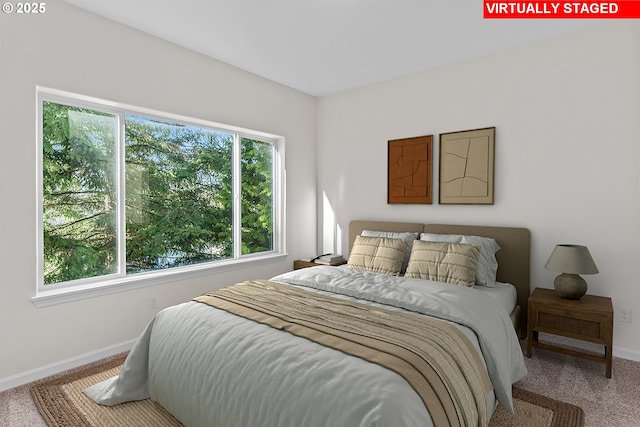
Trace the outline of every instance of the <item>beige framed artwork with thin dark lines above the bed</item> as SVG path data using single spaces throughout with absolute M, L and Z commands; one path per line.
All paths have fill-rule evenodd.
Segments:
M 494 204 L 495 127 L 440 134 L 440 204 Z

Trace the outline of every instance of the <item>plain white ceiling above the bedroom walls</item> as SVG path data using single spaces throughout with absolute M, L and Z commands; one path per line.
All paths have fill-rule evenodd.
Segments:
M 485 20 L 481 0 L 64 1 L 314 96 L 597 24 Z

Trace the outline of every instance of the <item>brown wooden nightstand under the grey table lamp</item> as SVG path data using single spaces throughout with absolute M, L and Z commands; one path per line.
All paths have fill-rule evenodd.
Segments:
M 527 357 L 531 348 L 556 351 L 602 362 L 611 378 L 613 305 L 611 298 L 584 295 L 579 300 L 560 298 L 553 289 L 536 288 L 529 296 Z M 604 356 L 538 341 L 538 333 L 559 335 L 604 345 Z

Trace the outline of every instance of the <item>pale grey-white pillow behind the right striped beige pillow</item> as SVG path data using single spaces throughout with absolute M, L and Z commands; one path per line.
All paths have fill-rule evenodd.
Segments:
M 478 258 L 478 269 L 476 270 L 476 284 L 495 286 L 496 274 L 498 273 L 498 260 L 496 253 L 500 250 L 500 245 L 490 238 L 481 236 L 466 236 L 459 234 L 435 234 L 422 233 L 420 240 L 430 242 L 454 242 L 464 243 L 467 245 L 475 245 L 480 247 L 480 256 Z

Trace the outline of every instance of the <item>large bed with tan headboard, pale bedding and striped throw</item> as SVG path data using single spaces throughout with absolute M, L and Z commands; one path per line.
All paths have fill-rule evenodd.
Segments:
M 495 239 L 496 280 L 514 285 L 514 308 L 479 286 L 357 268 L 371 261 L 360 257 L 370 242 L 390 245 L 378 255 L 402 247 L 365 236 L 371 231 Z M 103 405 L 150 397 L 188 427 L 487 425 L 498 402 L 512 409 L 511 385 L 526 375 L 516 329 L 526 319 L 529 241 L 521 228 L 352 221 L 346 266 L 243 282 L 169 307 L 119 376 L 85 394 Z M 415 246 L 435 245 L 480 256 L 463 243 Z M 392 258 L 394 269 L 407 267 Z

